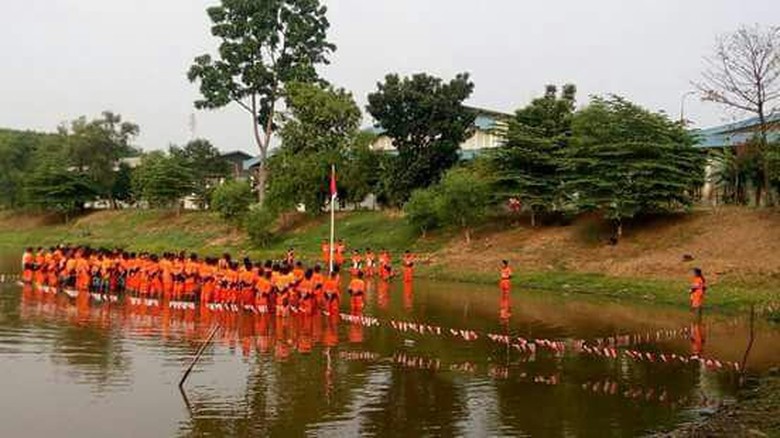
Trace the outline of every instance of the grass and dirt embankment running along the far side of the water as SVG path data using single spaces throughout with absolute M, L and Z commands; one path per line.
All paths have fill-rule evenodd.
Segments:
M 419 275 L 492 283 L 497 265 L 510 259 L 518 289 L 582 293 L 611 299 L 685 306 L 687 271 L 709 274 L 709 306 L 732 311 L 758 303 L 775 307 L 780 296 L 780 215 L 746 209 L 699 212 L 629 228 L 616 247 L 587 219 L 567 227 L 530 229 L 493 222 L 466 245 L 456 233 L 420 239 L 399 217 L 379 212 L 338 217 L 338 237 L 350 245 L 420 254 Z M 130 250 L 231 252 L 256 258 L 280 256 L 290 246 L 303 258 L 319 257 L 327 218 L 297 219 L 267 249 L 252 248 L 246 235 L 213 213 L 129 210 L 95 212 L 70 224 L 40 216 L 0 215 L 0 252 L 61 242 Z M 684 262 L 683 254 L 695 261 Z

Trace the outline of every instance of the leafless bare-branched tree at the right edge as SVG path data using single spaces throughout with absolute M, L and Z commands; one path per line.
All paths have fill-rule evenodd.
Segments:
M 766 154 L 767 115 L 780 102 L 780 26 L 743 26 L 718 38 L 714 56 L 706 58 L 702 80 L 695 82 L 702 99 L 752 113 L 759 120 L 759 147 Z M 764 162 L 766 203 L 771 205 L 769 169 Z

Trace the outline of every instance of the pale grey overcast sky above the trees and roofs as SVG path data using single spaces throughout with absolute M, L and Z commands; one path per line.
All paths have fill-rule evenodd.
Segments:
M 104 109 L 141 126 L 144 149 L 196 135 L 254 152 L 236 107 L 196 111 L 186 79 L 212 50 L 205 8 L 216 0 L 28 0 L 0 14 L 0 127 L 53 130 Z M 388 72 L 467 71 L 469 104 L 514 111 L 544 84 L 573 82 L 579 102 L 616 93 L 679 117 L 715 37 L 740 24 L 779 24 L 777 0 L 331 0 L 338 46 L 326 79 L 361 108 Z M 691 97 L 698 126 L 735 115 Z M 366 121 L 368 123 L 368 121 Z

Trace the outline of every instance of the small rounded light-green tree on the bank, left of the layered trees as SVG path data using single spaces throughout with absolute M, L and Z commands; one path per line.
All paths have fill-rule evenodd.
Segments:
M 439 220 L 460 228 L 470 242 L 471 229 L 485 217 L 490 205 L 490 182 L 472 169 L 458 167 L 444 175 L 437 193 Z

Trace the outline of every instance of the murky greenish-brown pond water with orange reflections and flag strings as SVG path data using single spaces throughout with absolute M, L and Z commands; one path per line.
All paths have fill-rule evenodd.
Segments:
M 510 302 L 497 288 L 423 281 L 374 284 L 368 298 L 379 327 L 3 284 L 0 436 L 635 436 L 729 400 L 738 378 L 728 363 L 742 360 L 748 338 L 744 318 L 696 324 L 684 311 L 520 286 Z M 444 333 L 401 332 L 390 320 Z M 215 323 L 223 329 L 181 394 L 182 370 Z M 566 350 L 532 354 L 486 333 L 560 340 Z M 628 338 L 617 358 L 575 347 L 626 334 L 642 339 Z M 780 362 L 780 331 L 759 323 L 756 335 L 749 372 Z M 660 359 L 693 353 L 724 368 Z

